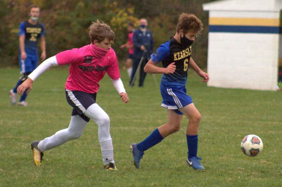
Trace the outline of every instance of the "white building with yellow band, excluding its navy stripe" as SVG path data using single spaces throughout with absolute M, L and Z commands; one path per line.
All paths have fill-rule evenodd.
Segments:
M 270 0 L 271 6 L 266 8 L 265 0 L 255 2 L 257 6 L 243 0 L 226 0 L 203 7 L 209 10 L 209 25 L 278 27 L 282 3 L 274 6 L 277 0 Z M 279 36 L 279 33 L 209 32 L 208 86 L 276 90 L 282 56 Z

